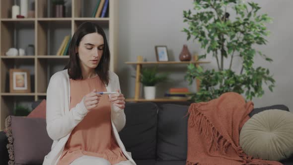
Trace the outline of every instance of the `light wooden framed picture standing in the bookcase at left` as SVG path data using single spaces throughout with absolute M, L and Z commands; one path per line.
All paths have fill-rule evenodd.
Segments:
M 10 69 L 9 70 L 9 88 L 10 92 L 25 92 L 30 90 L 30 75 L 29 70 L 25 69 Z

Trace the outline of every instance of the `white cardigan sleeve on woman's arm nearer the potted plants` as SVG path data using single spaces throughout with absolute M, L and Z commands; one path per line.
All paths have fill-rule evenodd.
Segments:
M 113 77 L 115 78 L 115 81 L 114 81 L 115 90 L 119 89 L 119 91 L 121 92 L 119 78 L 115 73 L 113 73 L 113 74 L 114 74 Z M 117 131 L 118 132 L 121 131 L 124 128 L 125 123 L 126 123 L 124 109 L 120 109 L 119 107 L 112 105 L 111 116 L 112 116 L 113 123 L 114 123 Z

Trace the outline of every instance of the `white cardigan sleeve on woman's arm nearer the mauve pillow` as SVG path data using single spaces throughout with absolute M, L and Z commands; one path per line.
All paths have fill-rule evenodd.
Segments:
M 59 140 L 68 135 L 73 128 L 83 119 L 88 110 L 80 101 L 68 113 L 65 110 L 65 98 L 68 97 L 63 86 L 62 75 L 53 75 L 47 89 L 46 123 L 47 132 L 52 140 Z

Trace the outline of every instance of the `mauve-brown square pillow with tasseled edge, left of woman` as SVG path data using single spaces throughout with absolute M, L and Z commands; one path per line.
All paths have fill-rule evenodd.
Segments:
M 8 116 L 5 126 L 8 165 L 42 164 L 53 143 L 47 134 L 46 119 Z

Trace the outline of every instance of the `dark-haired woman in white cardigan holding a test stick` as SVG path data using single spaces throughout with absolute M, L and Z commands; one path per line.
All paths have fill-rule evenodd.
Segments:
M 118 135 L 126 122 L 125 98 L 117 75 L 109 71 L 103 29 L 81 24 L 69 54 L 65 70 L 51 77 L 47 89 L 47 132 L 54 142 L 43 165 L 136 165 Z

